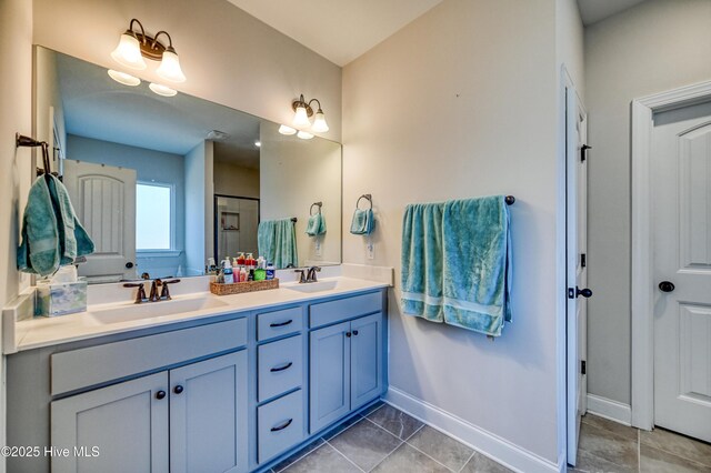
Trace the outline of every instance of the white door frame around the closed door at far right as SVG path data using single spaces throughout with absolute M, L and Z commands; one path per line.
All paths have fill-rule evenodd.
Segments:
M 711 100 L 711 81 L 635 99 L 632 159 L 632 425 L 654 425 L 654 318 L 651 152 L 653 114 Z

